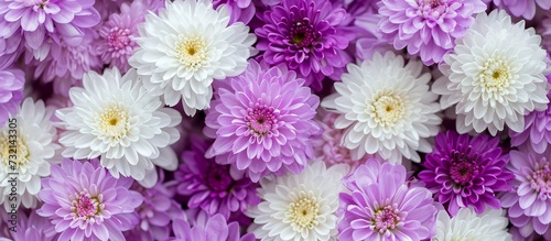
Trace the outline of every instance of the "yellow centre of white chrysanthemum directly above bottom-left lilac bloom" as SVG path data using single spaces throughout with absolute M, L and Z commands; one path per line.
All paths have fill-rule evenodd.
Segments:
M 121 107 L 114 105 L 98 117 L 99 130 L 111 140 L 119 140 L 127 135 L 130 124 L 129 114 Z

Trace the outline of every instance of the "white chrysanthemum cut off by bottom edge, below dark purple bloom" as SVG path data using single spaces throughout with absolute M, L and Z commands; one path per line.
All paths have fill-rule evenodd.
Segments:
M 509 220 L 504 209 L 486 208 L 480 215 L 474 209 L 462 208 L 450 218 L 445 210 L 439 211 L 436 235 L 432 241 L 488 240 L 509 241 L 512 237 L 507 232 Z

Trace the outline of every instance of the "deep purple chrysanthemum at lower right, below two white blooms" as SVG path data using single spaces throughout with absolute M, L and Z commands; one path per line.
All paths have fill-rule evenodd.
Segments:
M 453 131 L 440 133 L 435 147 L 426 155 L 419 178 L 426 184 L 434 198 L 447 204 L 452 216 L 460 208 L 474 207 L 477 213 L 488 205 L 494 209 L 501 206 L 497 191 L 507 191 L 515 176 L 504 167 L 509 155 L 503 154 L 499 139 L 479 134 L 473 139 L 468 134 Z

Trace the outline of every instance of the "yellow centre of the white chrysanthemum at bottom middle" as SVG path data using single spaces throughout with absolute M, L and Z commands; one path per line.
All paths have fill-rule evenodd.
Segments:
M 285 216 L 295 231 L 302 232 L 304 229 L 312 229 L 318 223 L 320 204 L 311 194 L 304 194 L 289 205 Z

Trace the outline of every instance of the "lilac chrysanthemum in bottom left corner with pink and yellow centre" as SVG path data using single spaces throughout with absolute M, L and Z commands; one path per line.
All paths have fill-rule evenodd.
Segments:
M 97 160 L 82 163 L 64 158 L 42 180 L 36 210 L 55 224 L 60 240 L 125 240 L 121 231 L 138 224 L 136 208 L 143 197 L 129 190 L 133 179 L 115 178 Z

